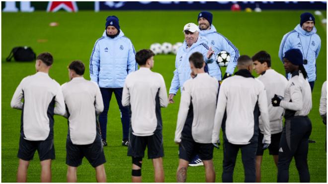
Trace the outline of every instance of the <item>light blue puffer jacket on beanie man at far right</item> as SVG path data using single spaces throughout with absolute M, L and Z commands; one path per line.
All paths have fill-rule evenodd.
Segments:
M 279 47 L 279 58 L 282 62 L 285 52 L 290 49 L 299 49 L 303 54 L 303 59 L 307 60 L 307 64 L 303 64 L 306 72 L 308 73 L 309 82 L 313 82 L 317 79 L 317 64 L 321 48 L 321 39 L 317 35 L 316 27 L 313 27 L 312 31 L 307 32 L 302 29 L 300 24 L 297 24 L 295 29 L 287 34 L 281 40 Z M 288 73 L 290 78 L 291 74 Z

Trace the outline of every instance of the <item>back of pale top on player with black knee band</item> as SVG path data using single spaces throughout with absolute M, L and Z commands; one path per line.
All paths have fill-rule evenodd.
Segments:
M 165 88 L 163 76 L 141 67 L 127 76 L 125 86 L 130 94 L 132 133 L 148 136 L 162 130 L 161 107 L 167 106 L 166 89 L 164 96 L 160 94 Z

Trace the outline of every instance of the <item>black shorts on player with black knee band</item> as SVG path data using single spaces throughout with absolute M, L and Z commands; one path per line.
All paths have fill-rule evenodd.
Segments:
M 164 157 L 162 131 L 155 132 L 150 136 L 137 136 L 130 130 L 128 156 L 144 158 L 146 146 L 148 159 Z

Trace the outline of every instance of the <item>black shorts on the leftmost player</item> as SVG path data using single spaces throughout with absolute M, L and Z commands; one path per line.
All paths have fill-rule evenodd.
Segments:
M 38 150 L 40 161 L 55 159 L 54 139 L 32 141 L 20 136 L 18 158 L 30 161 L 33 159 L 36 150 Z

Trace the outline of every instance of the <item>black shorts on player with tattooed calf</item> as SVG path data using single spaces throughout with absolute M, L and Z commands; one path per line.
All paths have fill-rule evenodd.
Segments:
M 213 158 L 214 145 L 212 143 L 198 143 L 182 139 L 179 143 L 179 158 L 191 162 L 198 155 L 201 160 Z

